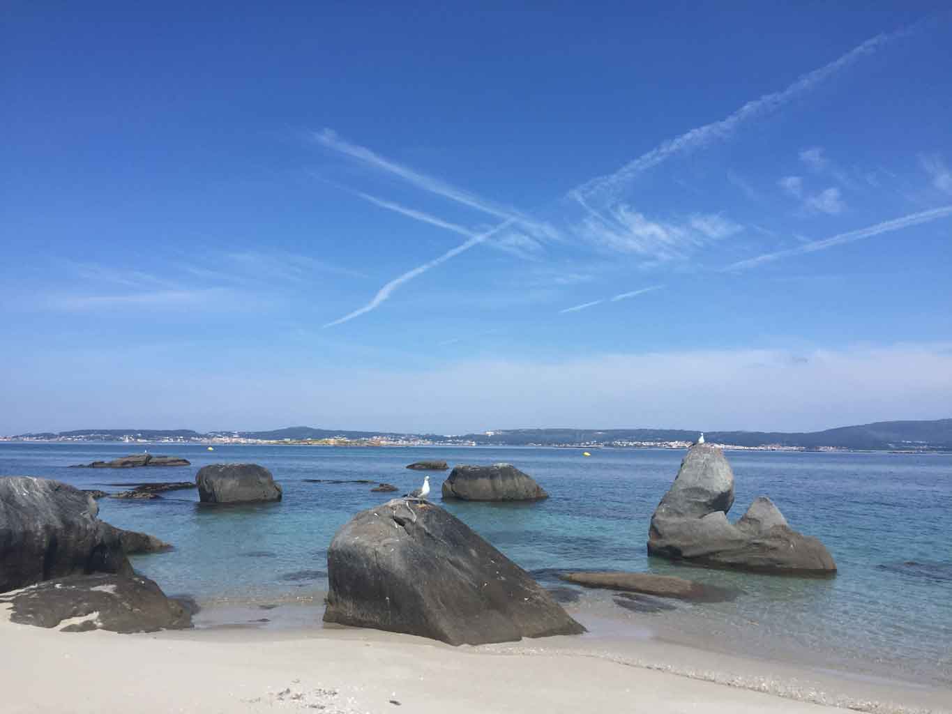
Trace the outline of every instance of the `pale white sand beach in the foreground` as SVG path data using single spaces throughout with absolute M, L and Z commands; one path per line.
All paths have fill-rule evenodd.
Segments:
M 949 691 L 850 680 L 656 640 L 556 637 L 450 647 L 346 628 L 62 633 L 11 624 L 6 614 L 0 612 L 5 714 L 834 711 L 790 697 L 839 698 L 877 712 L 952 710 Z M 902 708 L 862 704 L 873 699 Z

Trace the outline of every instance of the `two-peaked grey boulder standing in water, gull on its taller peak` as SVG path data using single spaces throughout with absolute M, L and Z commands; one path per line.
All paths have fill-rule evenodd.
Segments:
M 787 575 L 832 575 L 836 563 L 816 538 L 793 530 L 770 499 L 757 498 L 736 524 L 733 473 L 717 446 L 691 446 L 655 509 L 648 554 L 699 565 Z

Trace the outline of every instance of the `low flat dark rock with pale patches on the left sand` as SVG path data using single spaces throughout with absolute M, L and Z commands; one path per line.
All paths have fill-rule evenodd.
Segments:
M 191 626 L 190 609 L 142 576 L 71 575 L 0 596 L 10 621 L 63 632 L 154 632 Z

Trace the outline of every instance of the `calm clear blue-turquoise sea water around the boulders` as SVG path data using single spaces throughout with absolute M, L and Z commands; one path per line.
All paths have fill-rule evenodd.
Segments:
M 142 446 L 136 448 L 141 449 Z M 446 502 L 444 506 L 544 585 L 553 569 L 597 568 L 678 574 L 738 587 L 734 603 L 679 605 L 630 613 L 611 594 L 580 591 L 580 615 L 611 616 L 624 627 L 655 623 L 717 638 L 726 649 L 888 672 L 952 684 L 952 456 L 732 451 L 733 518 L 758 495 L 770 496 L 791 526 L 817 536 L 839 565 L 830 580 L 777 578 L 669 564 L 645 554 L 648 522 L 684 453 L 662 449 L 351 448 L 327 446 L 149 446 L 184 456 L 179 468 L 76 469 L 109 460 L 129 445 L 0 444 L 0 474 L 121 490 L 149 481 L 192 481 L 201 466 L 252 462 L 284 487 L 280 504 L 214 508 L 195 491 L 156 501 L 102 499 L 100 515 L 175 545 L 138 556 L 133 565 L 169 594 L 212 605 L 287 602 L 327 587 L 327 545 L 357 511 L 394 494 L 367 485 L 305 479 L 373 479 L 419 486 L 407 464 L 439 458 L 453 464 L 505 461 L 532 475 L 550 498 L 526 505 Z M 431 473 L 440 502 L 446 474 Z M 799 654 L 798 654 L 799 653 Z M 819 658 L 819 659 L 818 659 Z

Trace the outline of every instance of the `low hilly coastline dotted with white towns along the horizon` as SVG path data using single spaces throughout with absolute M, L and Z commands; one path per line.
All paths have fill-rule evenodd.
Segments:
M 245 439 L 282 441 L 285 439 L 329 439 L 343 437 L 360 440 L 385 437 L 391 440 L 426 440 L 435 444 L 472 442 L 481 446 L 557 446 L 572 444 L 617 445 L 635 442 L 693 442 L 700 429 L 500 429 L 483 433 L 446 437 L 439 434 L 413 434 L 398 431 L 350 431 L 312 426 L 288 426 L 270 431 L 212 431 L 202 434 L 191 429 L 75 429 L 59 433 L 20 434 L 20 438 L 68 438 L 84 441 L 138 439 L 201 440 L 215 436 L 239 436 Z M 860 426 L 839 426 L 823 431 L 706 431 L 710 442 L 734 446 L 796 446 L 801 448 L 856 449 L 939 449 L 952 450 L 952 419 L 922 422 L 876 422 Z

